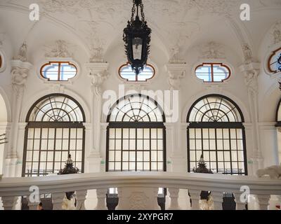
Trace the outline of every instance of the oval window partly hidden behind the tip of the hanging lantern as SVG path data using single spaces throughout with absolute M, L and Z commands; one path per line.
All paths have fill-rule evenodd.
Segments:
M 124 64 L 119 68 L 119 76 L 126 81 L 145 82 L 155 76 L 155 69 L 152 65 L 147 64 L 143 71 L 136 75 L 136 72 L 131 68 L 131 64 Z

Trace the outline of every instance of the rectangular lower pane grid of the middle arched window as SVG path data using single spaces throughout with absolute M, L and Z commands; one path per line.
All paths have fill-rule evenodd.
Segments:
M 117 130 L 121 130 L 122 137 L 117 137 Z M 146 135 L 145 137 L 145 130 L 146 132 L 149 130 L 149 136 Z M 157 132 L 155 137 L 152 137 L 152 130 Z M 125 131 L 128 131 L 129 133 L 127 137 L 124 137 Z M 114 137 L 109 136 L 108 139 L 107 162 L 109 172 L 164 171 L 163 128 L 110 128 L 109 132 L 115 133 Z M 133 135 L 131 132 L 133 132 Z M 128 149 L 124 148 L 125 141 L 129 144 Z M 155 141 L 156 144 L 155 148 L 152 147 L 153 141 Z M 117 142 L 119 142 L 118 145 L 121 146 L 121 148 L 117 147 Z M 147 149 L 144 148 L 145 142 L 148 146 Z M 133 144 L 133 148 L 131 148 L 131 144 Z M 142 145 L 142 147 L 138 148 L 140 145 Z M 112 146 L 114 147 L 111 148 Z M 111 154 L 114 154 L 114 159 L 111 158 Z M 153 156 L 152 154 L 156 154 L 156 156 Z M 141 165 L 142 168 L 138 167 L 138 165 Z

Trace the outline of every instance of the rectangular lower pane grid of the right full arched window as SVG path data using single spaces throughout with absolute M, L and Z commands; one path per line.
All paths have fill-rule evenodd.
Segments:
M 208 132 L 208 136 L 204 136 L 204 132 L 206 132 L 206 130 Z M 215 132 L 214 137 L 210 136 L 210 130 Z M 218 137 L 218 132 L 220 131 L 223 134 L 221 137 Z M 193 134 L 194 132 L 195 134 Z M 235 132 L 235 136 L 233 136 L 233 132 Z M 240 132 L 240 134 L 237 132 Z M 211 169 L 213 172 L 237 175 L 246 174 L 244 168 L 245 149 L 242 132 L 243 130 L 238 128 L 189 128 L 188 172 L 192 172 L 192 169 L 197 167 L 197 162 L 200 160 L 200 156 L 203 154 L 204 160 L 207 163 L 207 168 Z M 192 141 L 194 142 L 194 145 L 191 144 Z M 212 141 L 214 142 L 214 147 L 211 147 Z M 222 147 L 218 146 L 220 141 L 222 143 Z M 238 148 L 239 142 L 242 148 Z M 226 150 L 226 148 L 229 149 Z M 239 155 L 239 153 L 241 154 Z M 221 156 L 219 156 L 220 154 Z M 228 155 L 228 158 L 226 158 L 226 155 Z M 236 159 L 233 157 L 233 155 L 236 155 Z

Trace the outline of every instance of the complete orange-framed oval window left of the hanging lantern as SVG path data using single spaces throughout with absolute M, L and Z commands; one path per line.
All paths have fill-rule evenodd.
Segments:
M 41 66 L 40 72 L 49 81 L 67 81 L 77 75 L 77 67 L 70 62 L 49 62 Z

